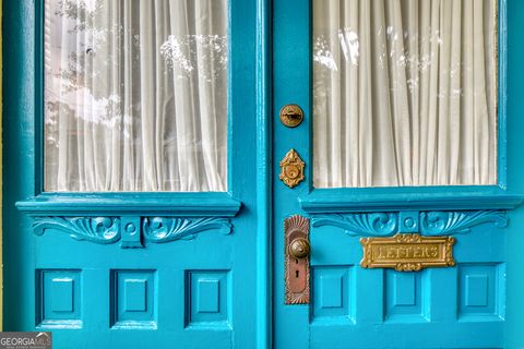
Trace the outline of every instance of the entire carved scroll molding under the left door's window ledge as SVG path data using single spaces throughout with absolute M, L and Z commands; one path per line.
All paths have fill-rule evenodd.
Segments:
M 128 222 L 133 220 L 142 220 L 142 225 Z M 99 244 L 121 241 L 122 249 L 136 249 L 143 248 L 142 240 L 152 243 L 191 240 L 206 230 L 229 234 L 233 225 L 228 218 L 223 217 L 35 217 L 33 229 L 37 236 L 43 236 L 47 229 L 53 229 L 66 232 L 75 240 Z

